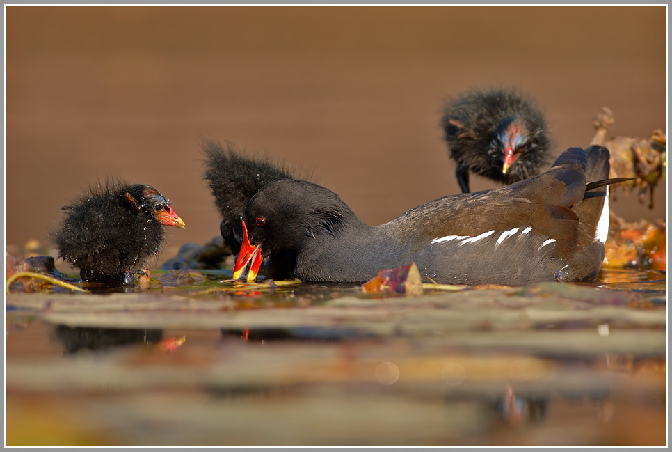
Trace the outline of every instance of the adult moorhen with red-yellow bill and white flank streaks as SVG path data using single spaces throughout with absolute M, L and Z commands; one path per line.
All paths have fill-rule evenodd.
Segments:
M 291 250 L 304 281 L 358 283 L 412 262 L 437 283 L 590 281 L 605 254 L 607 185 L 618 181 L 608 176 L 607 148 L 570 148 L 539 176 L 439 198 L 381 226 L 324 187 L 277 180 L 248 203 L 234 275 L 249 280 L 261 253 Z

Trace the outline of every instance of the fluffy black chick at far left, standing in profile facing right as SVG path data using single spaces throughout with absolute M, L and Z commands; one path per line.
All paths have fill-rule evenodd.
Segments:
M 150 185 L 108 180 L 63 207 L 51 233 L 58 257 L 79 268 L 82 281 L 133 285 L 159 254 L 163 225 L 184 228 L 170 202 Z

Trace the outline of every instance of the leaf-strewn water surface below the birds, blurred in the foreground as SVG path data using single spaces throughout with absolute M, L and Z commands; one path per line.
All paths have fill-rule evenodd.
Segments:
M 8 295 L 7 444 L 666 442 L 663 273 L 419 297 L 229 273 Z

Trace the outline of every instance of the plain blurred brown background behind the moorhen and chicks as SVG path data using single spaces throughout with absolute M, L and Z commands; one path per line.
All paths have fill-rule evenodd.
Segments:
M 557 147 L 666 130 L 665 6 L 8 6 L 6 245 L 90 182 L 154 185 L 186 221 L 161 260 L 218 235 L 200 141 L 313 174 L 369 224 L 458 192 L 438 127 L 450 95 L 514 86 Z M 495 187 L 472 178 L 472 189 Z M 626 219 L 665 218 L 614 204 Z

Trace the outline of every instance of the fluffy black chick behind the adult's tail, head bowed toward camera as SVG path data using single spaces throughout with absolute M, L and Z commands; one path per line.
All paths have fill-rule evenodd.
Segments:
M 506 185 L 536 176 L 550 150 L 546 121 L 529 98 L 506 89 L 471 91 L 451 100 L 441 119 L 463 193 L 469 172 Z

